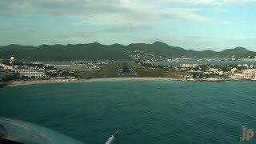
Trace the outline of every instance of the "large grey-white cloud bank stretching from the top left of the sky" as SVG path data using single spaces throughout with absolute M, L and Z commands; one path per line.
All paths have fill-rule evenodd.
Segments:
M 82 22 L 141 25 L 166 20 L 209 22 L 212 18 L 197 14 L 197 9 L 175 7 L 159 0 L 8 0 L 0 2 L 0 15 L 43 14 L 83 19 Z M 170 2 L 168 2 L 170 3 Z M 176 1 L 173 4 L 185 4 Z

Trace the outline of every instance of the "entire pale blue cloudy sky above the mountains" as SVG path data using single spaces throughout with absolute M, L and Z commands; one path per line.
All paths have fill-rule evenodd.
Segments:
M 0 1 L 0 46 L 155 41 L 256 51 L 256 0 Z

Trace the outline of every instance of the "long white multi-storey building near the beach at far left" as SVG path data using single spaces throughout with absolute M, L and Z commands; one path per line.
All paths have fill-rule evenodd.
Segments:
M 46 78 L 46 74 L 43 71 L 34 69 L 14 69 L 14 72 L 20 76 L 29 78 Z

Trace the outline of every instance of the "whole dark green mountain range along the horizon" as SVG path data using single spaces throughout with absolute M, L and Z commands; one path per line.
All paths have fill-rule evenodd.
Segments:
M 181 47 L 169 46 L 163 42 L 153 44 L 134 43 L 128 46 L 113 44 L 102 45 L 98 42 L 77 45 L 42 45 L 42 46 L 0 46 L 0 58 L 24 58 L 41 61 L 63 61 L 63 60 L 130 60 L 127 51 L 140 50 L 147 54 L 155 54 L 166 58 L 247 58 L 256 56 L 256 52 L 246 50 L 242 47 L 226 49 L 220 52 L 213 50 L 185 50 Z

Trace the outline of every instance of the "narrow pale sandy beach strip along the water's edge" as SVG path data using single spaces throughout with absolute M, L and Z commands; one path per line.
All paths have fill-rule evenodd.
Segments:
M 121 81 L 181 81 L 181 82 L 248 82 L 254 80 L 245 79 L 182 79 L 182 78 L 91 78 L 91 79 L 46 79 L 46 80 L 24 80 L 24 81 L 13 81 L 13 82 L 0 82 L 2 86 L 25 86 L 35 84 L 56 84 L 56 83 L 78 83 L 78 82 L 121 82 Z

